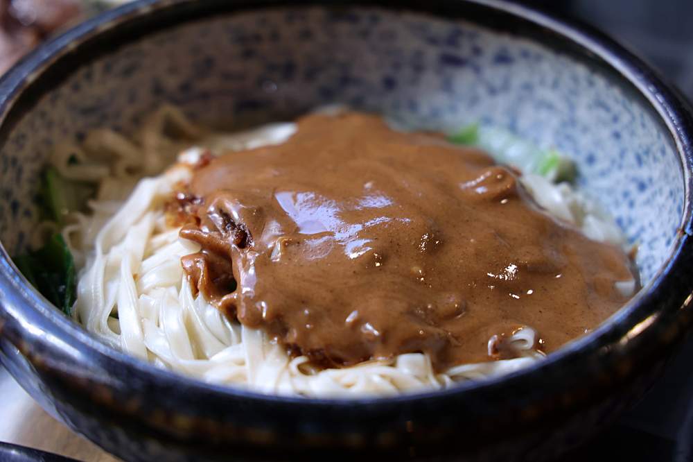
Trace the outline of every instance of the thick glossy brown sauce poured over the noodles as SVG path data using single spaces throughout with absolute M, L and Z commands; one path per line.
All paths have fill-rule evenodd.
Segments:
M 218 157 L 179 203 L 202 245 L 182 259 L 193 284 L 324 366 L 512 357 L 502 339 L 523 326 L 554 350 L 633 278 L 620 248 L 552 219 L 488 155 L 366 114 L 309 115 L 280 146 Z

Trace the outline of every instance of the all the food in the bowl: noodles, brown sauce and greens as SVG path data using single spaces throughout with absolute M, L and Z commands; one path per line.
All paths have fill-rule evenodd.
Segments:
M 53 302 L 208 382 L 452 386 L 540 360 L 638 286 L 613 219 L 554 184 L 572 164 L 497 128 L 445 137 L 331 108 L 223 134 L 166 107 L 135 139 L 96 130 L 51 163 L 60 234 L 18 259 L 24 273 L 50 288 L 37 260 L 69 273 L 74 257 L 76 294 L 66 277 Z M 88 213 L 67 213 L 92 189 Z

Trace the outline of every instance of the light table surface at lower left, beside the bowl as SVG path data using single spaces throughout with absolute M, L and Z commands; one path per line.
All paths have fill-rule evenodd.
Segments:
M 119 460 L 49 416 L 1 366 L 0 441 L 84 462 Z

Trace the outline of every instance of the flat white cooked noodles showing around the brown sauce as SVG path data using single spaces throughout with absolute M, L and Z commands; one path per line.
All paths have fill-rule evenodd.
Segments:
M 81 146 L 58 148 L 51 162 L 62 176 L 98 182 L 98 196 L 89 203 L 91 214 L 71 214 L 62 230 L 80 268 L 73 313 L 87 330 L 157 366 L 207 382 L 309 396 L 445 388 L 509 373 L 542 357 L 536 332 L 527 326 L 508 339 L 520 352 L 518 359 L 464 364 L 437 374 L 426 354 L 412 353 L 315 370 L 308 358 L 289 357 L 261 330 L 230 321 L 203 296 L 193 296 L 180 257 L 200 248 L 179 238 L 178 228 L 166 224 L 164 212 L 177 184 L 191 177 L 186 164 L 194 164 L 202 148 L 278 144 L 293 132 L 292 123 L 279 123 L 235 135 L 205 134 L 175 108 L 166 107 L 133 140 L 95 130 Z M 139 180 L 142 176 L 150 177 Z M 622 242 L 613 221 L 569 185 L 533 176 L 523 176 L 523 184 L 540 205 L 589 237 Z M 634 287 L 626 281 L 620 289 L 632 292 Z

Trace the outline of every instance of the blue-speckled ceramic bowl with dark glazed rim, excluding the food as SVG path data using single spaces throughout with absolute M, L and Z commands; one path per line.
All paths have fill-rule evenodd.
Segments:
M 638 397 L 692 323 L 693 122 L 674 90 L 598 33 L 511 3 L 353 3 L 137 1 L 0 81 L 0 358 L 123 459 L 541 459 Z M 130 132 L 164 102 L 212 124 L 340 102 L 422 128 L 507 128 L 577 161 L 581 186 L 640 244 L 644 289 L 541 364 L 444 392 L 306 400 L 158 370 L 64 318 L 8 255 L 37 225 L 56 142 Z

